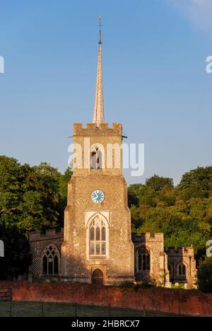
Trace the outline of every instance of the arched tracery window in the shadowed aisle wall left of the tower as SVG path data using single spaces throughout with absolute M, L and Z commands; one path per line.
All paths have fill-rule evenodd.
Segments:
M 59 274 L 59 251 L 50 244 L 42 255 L 42 273 L 47 275 Z

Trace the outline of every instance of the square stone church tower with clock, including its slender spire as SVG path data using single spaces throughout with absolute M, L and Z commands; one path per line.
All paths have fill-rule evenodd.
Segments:
M 100 18 L 101 23 L 101 18 Z M 102 36 L 93 122 L 73 124 L 73 175 L 68 185 L 61 246 L 64 281 L 134 281 L 134 245 L 122 175 L 122 124 L 105 122 Z

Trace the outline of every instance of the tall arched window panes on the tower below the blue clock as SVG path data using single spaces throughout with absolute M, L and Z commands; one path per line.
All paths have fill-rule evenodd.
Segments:
M 105 221 L 97 215 L 89 227 L 89 254 L 106 255 L 107 231 Z

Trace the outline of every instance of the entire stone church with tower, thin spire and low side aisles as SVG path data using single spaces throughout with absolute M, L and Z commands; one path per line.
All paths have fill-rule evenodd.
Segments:
M 122 139 L 122 124 L 105 122 L 100 30 L 93 122 L 73 124 L 64 229 L 30 233 L 31 280 L 114 284 L 151 277 L 167 287 L 171 281 L 194 286 L 192 247 L 165 252 L 163 233 L 131 233 L 122 149 L 117 155 L 108 148 L 122 146 Z

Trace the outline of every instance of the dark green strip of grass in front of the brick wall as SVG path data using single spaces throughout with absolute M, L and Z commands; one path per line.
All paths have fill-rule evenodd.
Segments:
M 105 306 L 83 306 L 70 303 L 4 302 L 0 301 L 0 317 L 143 317 L 143 311 L 109 308 Z M 170 317 L 163 313 L 146 312 L 146 317 Z

